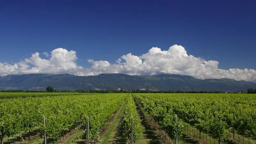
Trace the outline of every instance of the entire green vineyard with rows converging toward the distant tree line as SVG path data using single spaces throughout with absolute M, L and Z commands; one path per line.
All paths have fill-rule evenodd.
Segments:
M 87 117 L 90 143 L 113 143 L 120 131 L 126 143 L 256 143 L 256 94 L 0 93 L 3 143 L 41 140 L 44 132 L 57 143 L 77 129 L 85 142 Z

